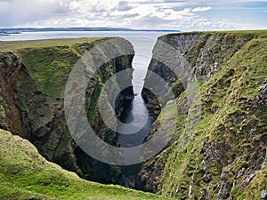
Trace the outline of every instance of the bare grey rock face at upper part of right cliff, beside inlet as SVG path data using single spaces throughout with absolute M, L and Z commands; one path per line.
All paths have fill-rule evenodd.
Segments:
M 160 36 L 153 50 L 153 58 L 156 59 L 150 61 L 149 69 L 161 76 L 174 89 L 173 92 L 177 98 L 186 88 L 187 82 L 190 81 L 188 80 L 189 72 L 193 71 L 194 77 L 200 82 L 206 83 L 235 52 L 238 52 L 253 37 L 253 34 L 237 36 L 224 33 Z M 162 53 L 164 56 L 160 56 Z M 157 58 L 161 58 L 161 60 L 157 60 Z M 147 76 L 146 79 L 150 79 L 150 76 Z M 157 101 L 146 87 L 146 82 L 142 97 L 152 105 Z

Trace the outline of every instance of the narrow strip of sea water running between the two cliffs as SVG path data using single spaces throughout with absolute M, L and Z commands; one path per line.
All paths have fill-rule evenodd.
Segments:
M 117 127 L 117 141 L 122 148 L 131 148 L 142 144 L 142 141 L 150 133 L 150 128 L 154 122 L 149 116 L 148 109 L 145 106 L 142 99 L 142 87 L 144 84 L 144 78 L 147 74 L 147 70 L 152 57 L 152 50 L 157 42 L 157 37 L 150 36 L 133 36 L 126 37 L 134 45 L 134 60 L 133 60 L 133 87 L 134 87 L 134 100 L 129 107 L 125 108 L 122 115 L 122 122 L 125 124 L 133 124 L 133 134 L 124 134 L 119 132 L 127 132 L 127 126 L 121 125 Z M 132 126 L 133 127 L 133 126 Z M 135 132 L 136 130 L 136 132 Z M 129 153 L 125 155 L 125 162 L 127 159 L 131 159 L 133 155 Z M 121 170 L 124 176 L 124 184 L 126 187 L 134 187 L 134 177 L 137 172 L 140 171 L 142 164 L 133 164 L 122 166 Z

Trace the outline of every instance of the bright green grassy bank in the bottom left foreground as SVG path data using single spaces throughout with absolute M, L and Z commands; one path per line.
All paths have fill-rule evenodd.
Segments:
M 46 161 L 19 136 L 0 130 L 0 199 L 166 199 L 77 177 Z

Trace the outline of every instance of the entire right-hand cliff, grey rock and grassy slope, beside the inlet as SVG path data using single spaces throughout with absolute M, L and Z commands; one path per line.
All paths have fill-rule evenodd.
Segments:
M 171 57 L 165 43 L 176 50 L 180 60 Z M 153 57 L 165 53 L 166 60 L 151 60 L 150 70 L 163 77 L 174 92 L 178 115 L 173 144 L 144 164 L 136 176 L 136 188 L 179 199 L 263 196 L 267 187 L 266 44 L 266 31 L 158 38 Z M 175 68 L 171 70 L 165 63 Z M 183 73 L 186 70 L 194 76 L 189 78 Z M 196 130 L 189 132 L 186 91 L 192 80 L 198 80 L 200 101 L 191 106 L 201 106 L 201 115 Z M 142 96 L 154 104 L 155 113 L 157 99 L 147 89 Z M 150 137 L 165 123 L 156 120 Z

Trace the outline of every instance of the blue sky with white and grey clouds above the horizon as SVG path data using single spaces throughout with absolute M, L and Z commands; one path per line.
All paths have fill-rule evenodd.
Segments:
M 266 29 L 267 0 L 0 0 L 0 28 Z

